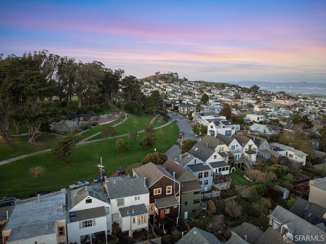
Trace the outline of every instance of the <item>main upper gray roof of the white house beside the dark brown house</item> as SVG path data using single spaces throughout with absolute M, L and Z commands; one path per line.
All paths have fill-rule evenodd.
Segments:
M 108 198 L 124 198 L 133 195 L 149 194 L 144 178 L 131 178 L 106 183 Z

